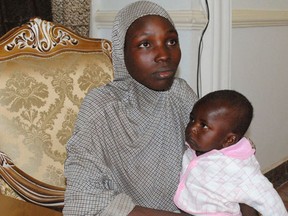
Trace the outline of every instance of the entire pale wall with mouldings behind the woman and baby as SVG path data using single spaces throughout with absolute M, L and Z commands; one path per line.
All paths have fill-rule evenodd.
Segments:
M 179 76 L 196 90 L 204 1 L 153 1 L 166 8 L 176 21 L 182 45 Z M 92 0 L 90 36 L 110 39 L 115 13 L 130 2 L 133 0 Z M 233 88 L 252 101 L 255 118 L 248 135 L 257 146 L 256 156 L 266 172 L 288 159 L 288 1 L 208 2 L 214 20 L 204 41 L 203 94 Z

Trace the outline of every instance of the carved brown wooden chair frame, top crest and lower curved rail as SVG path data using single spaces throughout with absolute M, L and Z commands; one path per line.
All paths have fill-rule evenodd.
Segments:
M 79 36 L 66 27 L 33 18 L 0 38 L 0 61 L 20 55 L 50 57 L 62 52 L 103 52 L 111 60 L 111 43 Z M 0 152 L 0 177 L 23 199 L 37 205 L 62 209 L 65 188 L 38 181 L 20 170 Z

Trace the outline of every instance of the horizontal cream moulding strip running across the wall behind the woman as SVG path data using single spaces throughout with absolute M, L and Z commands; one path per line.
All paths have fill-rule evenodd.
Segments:
M 177 29 L 202 30 L 206 24 L 206 15 L 201 10 L 168 11 Z M 112 28 L 117 11 L 96 11 L 94 24 L 97 28 Z M 280 10 L 233 10 L 232 27 L 271 27 L 288 26 L 288 11 Z

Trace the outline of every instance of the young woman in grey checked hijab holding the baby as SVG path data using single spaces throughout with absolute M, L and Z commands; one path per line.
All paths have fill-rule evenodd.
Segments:
M 179 215 L 173 195 L 197 97 L 174 77 L 177 31 L 162 7 L 139 1 L 117 14 L 112 44 L 115 79 L 86 96 L 67 144 L 64 215 Z

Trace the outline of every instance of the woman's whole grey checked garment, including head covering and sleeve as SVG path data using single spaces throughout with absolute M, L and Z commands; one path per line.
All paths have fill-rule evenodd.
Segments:
M 197 100 L 182 80 L 168 91 L 135 81 L 124 65 L 124 40 L 137 18 L 167 18 L 155 3 L 119 11 L 112 32 L 115 80 L 92 90 L 81 106 L 67 144 L 64 215 L 125 216 L 140 205 L 177 210 L 173 195 L 184 150 L 184 130 Z

